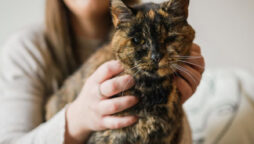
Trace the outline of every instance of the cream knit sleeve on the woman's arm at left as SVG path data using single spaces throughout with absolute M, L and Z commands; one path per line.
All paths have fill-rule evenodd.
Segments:
M 65 108 L 44 122 L 45 97 L 57 83 L 42 32 L 20 32 L 2 48 L 0 144 L 62 144 Z

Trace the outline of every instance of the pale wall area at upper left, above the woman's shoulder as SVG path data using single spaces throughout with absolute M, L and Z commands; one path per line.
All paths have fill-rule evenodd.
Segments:
M 43 20 L 44 0 L 0 0 L 0 46 L 28 24 Z

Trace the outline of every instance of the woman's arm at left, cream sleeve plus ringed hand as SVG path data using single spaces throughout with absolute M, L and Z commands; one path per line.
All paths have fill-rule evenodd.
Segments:
M 98 96 L 98 89 L 95 89 L 98 81 L 102 94 L 110 97 L 118 90 L 125 90 L 122 87 L 112 89 L 113 83 L 130 80 L 129 76 L 109 80 L 110 76 L 122 70 L 118 62 L 109 62 L 89 78 L 90 82 L 82 90 L 82 96 L 70 104 L 67 113 L 64 108 L 48 122 L 43 122 L 45 99 L 49 94 L 47 87 L 54 87 L 55 69 L 50 51 L 41 47 L 43 44 L 35 45 L 41 40 L 38 35 L 22 33 L 12 38 L 2 52 L 0 144 L 73 144 L 75 141 L 83 141 L 91 131 L 120 128 L 136 121 L 133 116 L 105 116 L 137 103 L 133 96 L 114 100 Z M 104 81 L 105 84 L 102 83 Z M 133 84 L 130 83 L 130 87 Z M 108 91 L 110 89 L 112 91 Z M 117 105 L 118 108 L 115 108 Z

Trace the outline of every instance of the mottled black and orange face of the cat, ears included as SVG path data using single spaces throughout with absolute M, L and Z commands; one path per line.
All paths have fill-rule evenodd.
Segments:
M 189 54 L 194 30 L 188 25 L 187 0 L 143 4 L 128 8 L 112 1 L 116 32 L 112 46 L 116 58 L 133 72 L 166 76 L 174 63 Z

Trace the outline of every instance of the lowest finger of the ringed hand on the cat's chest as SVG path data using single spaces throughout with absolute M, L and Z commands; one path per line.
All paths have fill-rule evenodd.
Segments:
M 137 117 L 134 116 L 125 116 L 125 117 L 116 117 L 116 116 L 106 116 L 102 119 L 103 126 L 106 129 L 119 129 L 123 127 L 130 126 L 137 121 Z

